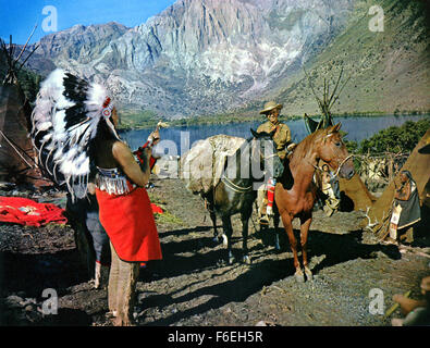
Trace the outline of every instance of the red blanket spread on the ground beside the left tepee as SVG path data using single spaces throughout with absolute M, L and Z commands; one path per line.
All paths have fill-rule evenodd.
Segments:
M 27 226 L 41 226 L 48 223 L 64 224 L 67 219 L 64 209 L 52 203 L 38 203 L 20 197 L 0 197 L 0 222 Z

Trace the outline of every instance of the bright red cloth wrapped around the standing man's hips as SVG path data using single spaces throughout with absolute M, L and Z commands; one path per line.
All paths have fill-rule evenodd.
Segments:
M 96 189 L 100 223 L 123 261 L 161 260 L 161 246 L 148 194 L 134 188 L 126 195 Z

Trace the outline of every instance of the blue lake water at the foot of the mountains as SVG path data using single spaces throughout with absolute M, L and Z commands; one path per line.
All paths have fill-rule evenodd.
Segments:
M 426 117 L 429 117 L 429 115 L 346 116 L 333 117 L 333 121 L 335 123 L 342 123 L 341 129 L 347 133 L 347 140 L 359 142 L 363 139 L 370 138 L 382 129 L 391 126 L 401 126 L 406 121 L 419 121 Z M 308 135 L 303 120 L 286 121 L 285 123 L 291 129 L 294 142 L 303 140 Z M 259 124 L 260 122 L 245 122 L 163 128 L 160 129 L 160 137 L 163 140 L 160 142 L 160 146 L 164 149 L 164 153 L 181 154 L 187 151 L 195 141 L 206 139 L 217 134 L 248 138 L 250 136 L 249 129 L 257 129 Z M 145 144 L 146 138 L 152 130 L 153 129 L 127 130 L 121 133 L 121 138 L 134 150 Z

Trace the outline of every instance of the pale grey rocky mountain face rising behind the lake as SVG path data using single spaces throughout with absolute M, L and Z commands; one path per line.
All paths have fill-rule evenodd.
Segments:
M 353 3 L 179 0 L 134 28 L 76 25 L 48 35 L 37 53 L 107 80 L 127 109 L 216 113 L 246 104 L 315 54 L 341 32 Z

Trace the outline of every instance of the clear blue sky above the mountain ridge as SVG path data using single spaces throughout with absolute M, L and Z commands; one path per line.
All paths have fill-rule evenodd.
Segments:
M 145 23 L 175 0 L 0 0 L 0 37 L 25 44 L 37 24 L 30 44 L 76 24 L 118 22 L 127 27 Z

